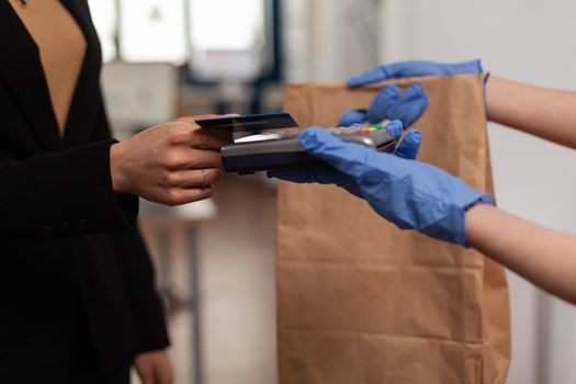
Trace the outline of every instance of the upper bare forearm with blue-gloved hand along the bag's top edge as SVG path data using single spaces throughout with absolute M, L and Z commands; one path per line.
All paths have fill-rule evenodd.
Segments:
M 419 76 L 479 75 L 479 60 L 459 64 L 400 61 L 382 65 L 348 80 L 350 87 Z M 576 148 L 576 92 L 551 90 L 489 77 L 485 83 L 488 118 Z

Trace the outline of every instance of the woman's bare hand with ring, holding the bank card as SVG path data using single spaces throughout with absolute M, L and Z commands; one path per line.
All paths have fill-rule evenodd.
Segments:
M 222 146 L 229 133 L 195 124 L 203 115 L 148 128 L 110 149 L 115 193 L 139 195 L 155 203 L 180 205 L 207 199 L 221 178 Z

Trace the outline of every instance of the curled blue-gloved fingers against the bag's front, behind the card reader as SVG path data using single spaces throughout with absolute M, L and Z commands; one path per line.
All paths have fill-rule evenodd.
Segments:
M 410 126 L 428 106 L 428 97 L 421 84 L 409 87 L 404 94 L 398 86 L 382 89 L 366 111 L 354 110 L 340 116 L 339 125 L 350 126 L 355 123 L 377 124 L 383 120 L 399 120 L 404 126 Z

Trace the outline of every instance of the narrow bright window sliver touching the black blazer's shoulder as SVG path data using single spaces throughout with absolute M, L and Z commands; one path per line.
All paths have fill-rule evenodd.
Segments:
M 90 12 L 94 22 L 104 63 L 117 57 L 116 52 L 116 0 L 89 0 Z

